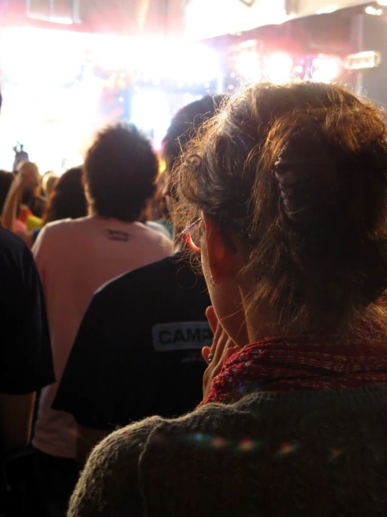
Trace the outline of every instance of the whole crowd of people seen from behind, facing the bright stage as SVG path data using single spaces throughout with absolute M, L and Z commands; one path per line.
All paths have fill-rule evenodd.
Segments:
M 0 515 L 386 515 L 386 120 L 258 83 L 0 171 Z

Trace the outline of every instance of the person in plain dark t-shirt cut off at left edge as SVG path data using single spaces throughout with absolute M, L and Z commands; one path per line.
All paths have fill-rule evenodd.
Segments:
M 29 443 L 36 392 L 54 382 L 41 281 L 27 245 L 0 228 L 0 467 Z M 22 473 L 19 473 L 22 474 Z M 0 476 L 0 513 L 16 480 Z M 8 504 L 7 503 L 7 504 Z M 9 508 L 8 508 L 8 511 Z

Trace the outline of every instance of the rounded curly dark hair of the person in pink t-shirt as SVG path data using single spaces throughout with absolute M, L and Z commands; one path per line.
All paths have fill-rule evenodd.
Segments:
M 84 167 L 94 211 L 105 218 L 138 220 L 156 191 L 158 173 L 151 143 L 134 125 L 104 129 L 89 148 Z

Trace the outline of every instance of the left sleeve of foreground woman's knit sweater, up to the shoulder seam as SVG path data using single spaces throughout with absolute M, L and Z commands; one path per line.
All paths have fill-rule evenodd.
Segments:
M 149 434 L 163 423 L 157 416 L 123 427 L 94 448 L 80 475 L 68 517 L 143 515 L 138 460 Z

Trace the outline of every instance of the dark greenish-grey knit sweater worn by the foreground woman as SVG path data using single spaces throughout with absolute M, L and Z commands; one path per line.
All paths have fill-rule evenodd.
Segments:
M 68 517 L 387 516 L 387 385 L 241 397 L 112 433 Z

